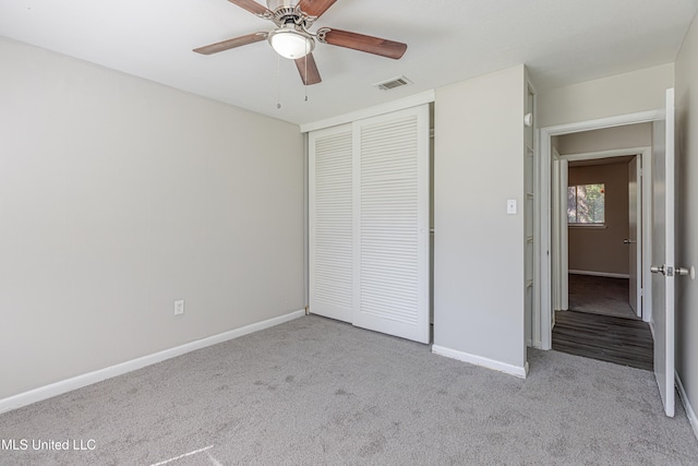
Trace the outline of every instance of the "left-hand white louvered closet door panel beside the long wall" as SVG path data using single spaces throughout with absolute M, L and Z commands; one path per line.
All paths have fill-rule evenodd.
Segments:
M 351 322 L 353 214 L 351 124 L 309 135 L 310 311 Z

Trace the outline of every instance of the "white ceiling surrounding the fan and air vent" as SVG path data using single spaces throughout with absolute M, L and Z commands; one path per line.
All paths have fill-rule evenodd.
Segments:
M 408 49 L 395 61 L 317 44 L 323 82 L 308 87 L 308 101 L 294 63 L 277 60 L 266 41 L 192 52 L 274 27 L 226 0 L 3 0 L 0 35 L 308 123 L 520 63 L 540 92 L 672 62 L 697 10 L 698 0 L 338 0 L 311 31 Z M 372 86 L 398 75 L 413 84 Z

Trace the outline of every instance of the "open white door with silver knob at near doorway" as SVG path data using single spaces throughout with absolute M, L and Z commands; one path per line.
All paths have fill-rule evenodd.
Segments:
M 654 375 L 666 416 L 674 416 L 674 89 L 666 119 L 652 126 L 652 321 Z

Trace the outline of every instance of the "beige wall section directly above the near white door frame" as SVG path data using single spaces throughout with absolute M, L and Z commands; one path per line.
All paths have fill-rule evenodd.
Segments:
M 538 95 L 538 128 L 664 108 L 673 63 L 617 74 Z

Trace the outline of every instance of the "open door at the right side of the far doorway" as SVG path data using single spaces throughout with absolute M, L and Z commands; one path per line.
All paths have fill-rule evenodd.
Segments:
M 638 240 L 641 238 L 641 215 L 642 206 L 640 205 L 640 189 L 638 180 L 640 179 L 640 164 L 638 164 L 639 156 L 636 156 L 628 164 L 628 238 L 625 240 L 628 246 L 628 273 L 630 276 L 630 290 L 629 290 L 629 303 L 633 311 L 637 316 L 642 315 L 642 298 L 641 298 L 641 284 L 638 284 L 638 278 L 641 277 L 641 271 L 638 274 L 638 268 L 641 265 L 641 248 L 638 248 Z M 640 278 L 641 279 L 641 278 Z

